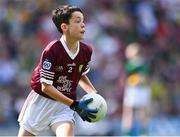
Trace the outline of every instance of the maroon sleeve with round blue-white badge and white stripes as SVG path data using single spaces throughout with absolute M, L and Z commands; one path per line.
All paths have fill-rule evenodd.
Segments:
M 52 46 L 51 46 L 52 47 Z M 40 61 L 40 82 L 46 84 L 53 84 L 55 74 L 55 52 L 53 48 L 47 48 L 44 50 Z

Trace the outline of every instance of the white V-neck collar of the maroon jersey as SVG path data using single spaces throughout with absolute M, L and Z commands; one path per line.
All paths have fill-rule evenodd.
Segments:
M 79 53 L 79 42 L 77 43 L 77 50 L 76 50 L 76 52 L 73 54 L 73 53 L 68 49 L 68 46 L 67 46 L 67 44 L 66 44 L 66 42 L 65 42 L 65 40 L 64 40 L 64 36 L 61 36 L 60 41 L 61 41 L 64 49 L 66 50 L 67 54 L 69 55 L 69 57 L 70 57 L 71 59 L 75 59 L 75 57 L 76 57 L 77 54 Z

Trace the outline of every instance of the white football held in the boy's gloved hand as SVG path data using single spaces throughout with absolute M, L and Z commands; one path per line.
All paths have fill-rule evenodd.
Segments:
M 107 113 L 107 103 L 105 99 L 99 94 L 86 94 L 81 100 L 93 98 L 93 101 L 88 104 L 90 109 L 97 109 L 98 112 L 95 113 L 96 118 L 91 118 L 91 122 L 97 122 L 103 119 Z

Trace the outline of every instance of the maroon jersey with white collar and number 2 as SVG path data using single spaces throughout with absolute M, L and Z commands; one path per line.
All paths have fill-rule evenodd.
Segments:
M 50 98 L 41 91 L 41 83 L 53 85 L 59 92 L 76 99 L 76 87 L 82 75 L 90 70 L 92 48 L 78 42 L 76 53 L 69 51 L 63 36 L 50 42 L 42 52 L 38 66 L 31 78 L 31 88 L 38 94 Z

